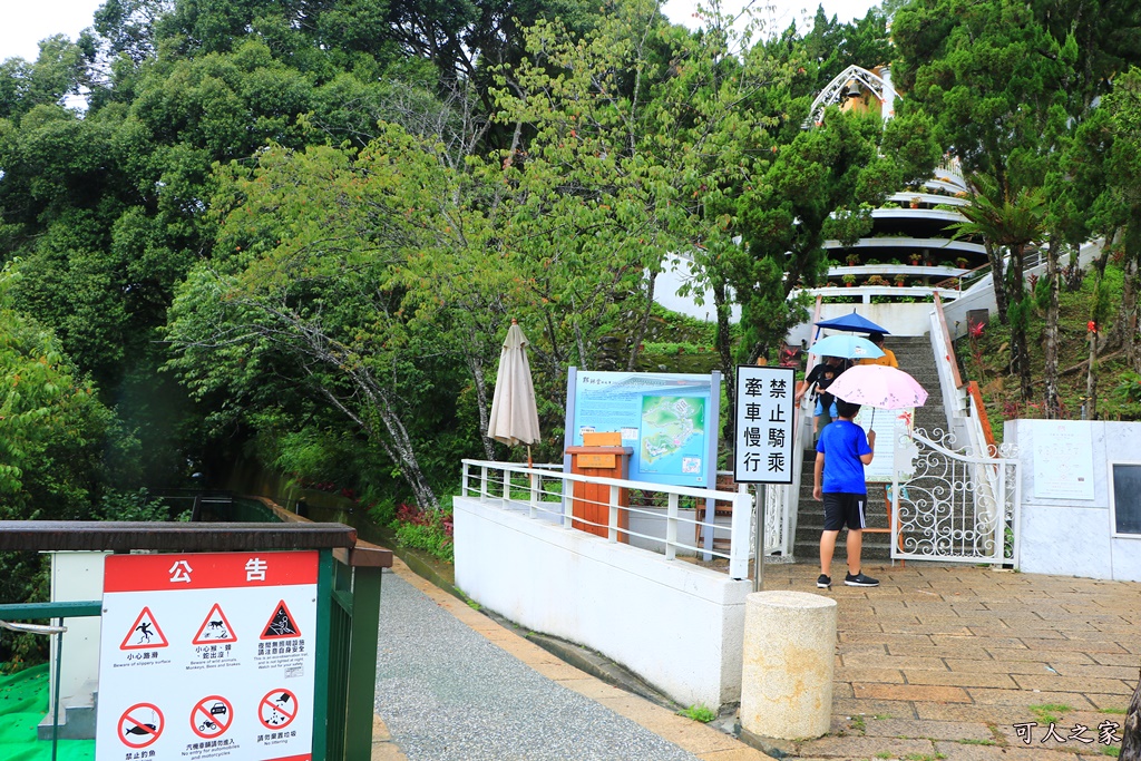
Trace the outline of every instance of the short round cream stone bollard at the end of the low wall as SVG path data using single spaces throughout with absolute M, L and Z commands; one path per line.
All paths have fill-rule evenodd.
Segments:
M 836 601 L 809 592 L 745 598 L 741 727 L 761 737 L 820 737 L 832 726 Z

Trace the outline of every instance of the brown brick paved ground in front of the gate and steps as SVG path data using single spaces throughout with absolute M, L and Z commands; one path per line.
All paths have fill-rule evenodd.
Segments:
M 864 570 L 881 585 L 836 581 L 826 592 L 814 564 L 766 566 L 766 590 L 825 593 L 839 605 L 832 731 L 780 750 L 1062 761 L 1120 746 L 1119 730 L 1106 745 L 1098 728 L 1120 724 L 1138 685 L 1141 583 L 916 562 Z

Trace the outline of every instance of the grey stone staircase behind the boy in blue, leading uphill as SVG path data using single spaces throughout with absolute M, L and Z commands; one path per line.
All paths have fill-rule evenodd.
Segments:
M 936 369 L 934 355 L 931 351 L 929 335 L 888 335 L 884 347 L 896 354 L 899 369 L 912 375 L 928 391 L 926 404 L 915 411 L 915 427 L 931 434 L 933 430 L 946 430 L 947 415 L 942 406 L 942 392 L 939 388 L 939 372 Z M 793 554 L 799 562 L 814 562 L 820 553 L 820 532 L 824 531 L 824 508 L 812 499 L 812 462 L 816 452 L 806 450 L 804 467 L 800 483 L 800 507 L 796 517 L 796 537 Z M 881 484 L 868 484 L 867 487 L 868 528 L 887 529 L 888 508 L 884 505 L 884 488 Z M 841 532 L 836 540 L 836 552 L 833 567 L 842 568 L 837 562 L 847 558 L 844 540 Z M 883 561 L 891 558 L 891 535 L 888 533 L 866 532 L 861 559 Z M 835 573 L 833 574 L 835 575 Z

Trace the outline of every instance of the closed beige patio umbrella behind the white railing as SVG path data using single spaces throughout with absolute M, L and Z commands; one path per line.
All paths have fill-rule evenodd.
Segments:
M 500 354 L 487 435 L 510 446 L 526 444 L 527 467 L 531 467 L 531 445 L 536 444 L 540 436 L 539 408 L 535 406 L 535 386 L 531 380 L 531 364 L 527 362 L 527 339 L 515 319 L 511 321 Z

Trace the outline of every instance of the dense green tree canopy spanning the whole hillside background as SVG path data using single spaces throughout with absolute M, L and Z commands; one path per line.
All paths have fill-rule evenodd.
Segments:
M 87 431 L 81 476 L 14 460 L 0 502 L 253 458 L 436 508 L 462 456 L 503 455 L 511 318 L 557 453 L 567 369 L 638 366 L 672 259 L 713 294 L 722 366 L 752 362 L 804 318 L 825 240 L 945 152 L 979 172 L 996 261 L 1100 234 L 1135 262 L 1138 29 L 1124 0 L 911 0 L 803 32 L 691 31 L 652 0 L 107 0 L 0 63 L 5 309 L 50 343 L 47 384 L 83 389 L 34 410 Z M 851 64 L 891 65 L 898 115 L 804 130 Z M 1017 329 L 1028 296 L 996 276 Z

